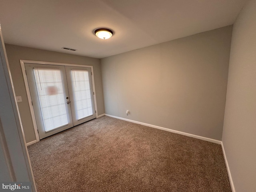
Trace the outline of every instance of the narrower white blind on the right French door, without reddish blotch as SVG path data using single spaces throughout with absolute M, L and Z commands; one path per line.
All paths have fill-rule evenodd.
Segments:
M 82 119 L 92 115 L 89 73 L 85 70 L 71 70 L 76 117 Z

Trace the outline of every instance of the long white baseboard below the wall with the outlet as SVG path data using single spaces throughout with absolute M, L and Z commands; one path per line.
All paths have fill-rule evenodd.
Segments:
M 145 126 L 152 127 L 152 128 L 157 128 L 157 129 L 160 129 L 160 130 L 164 130 L 164 131 L 168 131 L 168 132 L 172 132 L 172 133 L 177 133 L 177 134 L 180 134 L 180 135 L 193 137 L 193 138 L 201 139 L 201 140 L 204 140 L 204 141 L 209 141 L 209 142 L 216 143 L 216 144 L 221 144 L 222 143 L 220 140 L 215 140 L 215 139 L 211 139 L 211 138 L 207 138 L 207 137 L 193 135 L 193 134 L 190 134 L 190 133 L 176 131 L 176 130 L 172 130 L 172 129 L 168 129 L 168 128 L 164 128 L 164 127 L 160 127 L 160 126 L 156 126 L 156 125 L 151 125 L 151 124 L 147 124 L 147 123 L 142 123 L 142 122 L 126 119 L 126 118 L 116 117 L 116 116 L 112 116 L 112 115 L 108 115 L 108 114 L 105 114 L 105 115 L 109 116 L 109 117 L 116 118 L 116 119 L 121 119 L 121 120 L 124 120 L 124 121 L 128 121 L 128 122 L 132 122 L 132 123 L 136 123 L 136 124 L 140 124 L 140 125 L 145 125 Z

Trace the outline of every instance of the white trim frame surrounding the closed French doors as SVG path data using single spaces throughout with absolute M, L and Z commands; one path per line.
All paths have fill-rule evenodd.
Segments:
M 27 98 L 28 98 L 28 104 L 29 104 L 29 109 L 30 109 L 30 114 L 33 122 L 33 127 L 34 127 L 34 132 L 36 135 L 36 142 L 38 142 L 39 139 L 39 134 L 38 134 L 38 129 L 36 125 L 36 117 L 34 114 L 34 108 L 32 105 L 32 99 L 30 96 L 30 90 L 28 86 L 28 79 L 26 76 L 26 69 L 25 69 L 25 63 L 31 63 L 31 64 L 45 64 L 45 65 L 60 65 L 60 66 L 75 66 L 75 67 L 90 67 L 92 70 L 92 87 L 93 87 L 93 92 L 94 92 L 94 102 L 95 102 L 95 110 L 96 110 L 96 118 L 98 118 L 98 110 L 97 110 L 97 101 L 96 101 L 96 92 L 95 92 L 95 84 L 94 84 L 94 72 L 93 72 L 93 66 L 88 66 L 88 65 L 77 65 L 77 64 L 65 64 L 65 63 L 54 63 L 54 62 L 43 62 L 43 61 L 31 61 L 31 60 L 20 60 L 20 66 L 23 74 L 23 79 L 25 83 L 25 88 L 26 88 L 26 93 L 27 93 Z

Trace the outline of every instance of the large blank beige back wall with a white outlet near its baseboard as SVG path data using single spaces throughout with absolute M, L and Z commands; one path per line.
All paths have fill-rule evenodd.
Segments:
M 101 59 L 106 114 L 221 140 L 231 34 L 227 26 Z

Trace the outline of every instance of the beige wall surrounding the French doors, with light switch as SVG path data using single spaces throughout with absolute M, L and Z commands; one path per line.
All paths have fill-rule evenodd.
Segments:
M 18 103 L 18 107 L 27 143 L 36 140 L 36 137 L 20 67 L 20 59 L 93 66 L 98 115 L 104 114 L 102 79 L 99 59 L 15 46 L 10 44 L 6 44 L 5 46 L 16 96 L 22 96 L 22 102 Z

